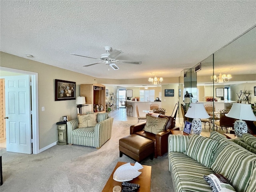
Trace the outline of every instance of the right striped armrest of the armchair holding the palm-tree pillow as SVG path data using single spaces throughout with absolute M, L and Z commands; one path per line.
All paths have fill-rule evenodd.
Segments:
M 111 138 L 112 125 L 114 118 L 110 117 L 96 124 L 95 130 L 95 146 L 100 148 Z

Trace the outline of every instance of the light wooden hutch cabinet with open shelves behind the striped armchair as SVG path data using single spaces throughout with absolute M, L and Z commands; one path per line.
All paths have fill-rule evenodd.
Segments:
M 86 103 L 94 105 L 103 105 L 103 110 L 106 111 L 106 89 L 102 84 L 81 84 L 80 96 L 85 96 Z

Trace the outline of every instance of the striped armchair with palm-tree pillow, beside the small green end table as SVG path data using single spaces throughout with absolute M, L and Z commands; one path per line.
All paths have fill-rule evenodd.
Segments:
M 67 122 L 68 144 L 96 147 L 99 149 L 111 138 L 114 118 L 108 113 L 97 115 L 97 124 L 94 127 L 78 128 L 78 119 Z

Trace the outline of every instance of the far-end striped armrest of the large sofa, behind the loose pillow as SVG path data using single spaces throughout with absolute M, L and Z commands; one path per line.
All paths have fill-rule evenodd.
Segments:
M 170 152 L 180 152 L 183 153 L 187 149 L 188 140 L 190 136 L 188 135 L 172 135 L 168 137 L 168 153 Z

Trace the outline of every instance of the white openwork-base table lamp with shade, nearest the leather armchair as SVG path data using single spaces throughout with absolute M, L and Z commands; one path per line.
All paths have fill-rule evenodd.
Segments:
M 202 131 L 201 118 L 209 118 L 210 116 L 206 112 L 203 103 L 190 103 L 188 112 L 185 117 L 193 118 L 192 120 L 192 130 L 194 134 L 200 134 Z

